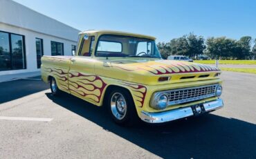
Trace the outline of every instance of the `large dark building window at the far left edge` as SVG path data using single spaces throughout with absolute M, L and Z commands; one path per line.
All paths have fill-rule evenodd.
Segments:
M 26 69 L 23 35 L 0 31 L 0 71 Z

